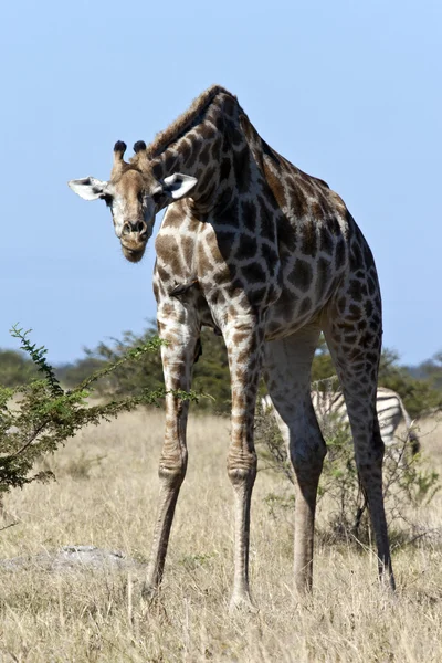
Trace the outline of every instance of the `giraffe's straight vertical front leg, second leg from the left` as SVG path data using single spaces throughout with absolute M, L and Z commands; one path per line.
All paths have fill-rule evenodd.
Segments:
M 234 580 L 231 609 L 253 609 L 249 587 L 250 504 L 256 477 L 253 423 L 261 372 L 263 325 L 255 319 L 224 332 L 232 383 L 232 433 L 228 474 L 234 493 Z

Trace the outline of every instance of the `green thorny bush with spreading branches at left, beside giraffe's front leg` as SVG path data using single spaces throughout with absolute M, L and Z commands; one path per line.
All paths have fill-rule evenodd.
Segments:
M 159 387 L 141 389 L 136 396 L 114 398 L 106 403 L 91 404 L 86 400 L 98 380 L 110 379 L 112 373 L 123 367 L 136 367 L 147 355 L 158 355 L 161 345 L 158 338 L 130 348 L 65 391 L 45 359 L 46 349 L 32 345 L 29 332 L 13 327 L 12 336 L 21 341 L 22 350 L 30 356 L 41 379 L 32 379 L 20 387 L 0 387 L 0 493 L 31 481 L 49 480 L 51 472 L 32 474 L 35 461 L 53 453 L 85 425 L 98 424 L 139 404 L 158 404 L 165 396 L 164 388 Z M 177 396 L 196 399 L 194 392 L 177 392 Z

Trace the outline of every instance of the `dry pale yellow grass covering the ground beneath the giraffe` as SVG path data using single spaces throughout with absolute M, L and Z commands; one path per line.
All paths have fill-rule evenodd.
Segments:
M 66 545 L 122 550 L 146 562 L 158 492 L 164 418 L 140 411 L 92 428 L 46 461 L 57 482 L 4 498 L 0 557 Z M 269 512 L 281 475 L 259 472 L 252 504 L 251 580 L 256 614 L 229 613 L 232 488 L 225 472 L 229 421 L 191 417 L 189 469 L 171 534 L 161 598 L 140 598 L 143 568 L 50 572 L 32 560 L 1 568 L 0 661 L 30 662 L 411 662 L 442 661 L 442 494 L 410 513 L 431 536 L 397 550 L 398 592 L 377 582 L 372 552 L 327 544 L 329 505 L 319 502 L 315 590 L 292 582 L 290 511 Z M 421 441 L 442 474 L 442 425 Z M 287 485 L 287 490 L 290 490 Z

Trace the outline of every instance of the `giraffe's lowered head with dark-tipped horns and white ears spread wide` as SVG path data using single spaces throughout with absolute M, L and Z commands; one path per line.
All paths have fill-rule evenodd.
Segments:
M 136 156 L 129 164 L 123 158 L 125 151 L 126 144 L 118 140 L 114 147 L 114 166 L 108 181 L 85 177 L 67 183 L 84 200 L 102 199 L 106 202 L 125 257 L 138 262 L 152 234 L 156 213 L 188 196 L 197 179 L 180 172 L 161 181 L 156 179 L 143 140 L 134 145 Z

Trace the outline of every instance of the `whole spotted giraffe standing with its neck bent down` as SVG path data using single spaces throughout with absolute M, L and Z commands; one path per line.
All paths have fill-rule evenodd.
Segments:
M 110 208 L 123 253 L 138 262 L 156 214 L 157 301 L 166 396 L 159 503 L 146 588 L 161 582 L 186 476 L 188 390 L 200 330 L 224 338 L 231 375 L 227 470 L 234 499 L 231 607 L 253 606 L 249 583 L 253 423 L 260 376 L 280 414 L 296 476 L 295 588 L 312 588 L 316 493 L 326 446 L 311 400 L 311 365 L 324 332 L 345 394 L 379 576 L 394 588 L 376 413 L 381 298 L 371 251 L 341 198 L 272 149 L 236 97 L 214 85 L 146 146 L 117 141 L 108 181 L 71 180 Z

